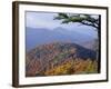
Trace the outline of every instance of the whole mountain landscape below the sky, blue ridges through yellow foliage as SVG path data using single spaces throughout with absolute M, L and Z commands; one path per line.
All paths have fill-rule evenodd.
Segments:
M 61 27 L 27 27 L 26 33 L 26 77 L 98 72 L 93 34 Z

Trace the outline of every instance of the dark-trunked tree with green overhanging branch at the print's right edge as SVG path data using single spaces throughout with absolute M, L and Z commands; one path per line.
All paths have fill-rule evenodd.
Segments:
M 89 27 L 93 27 L 95 31 L 98 31 L 98 41 L 95 41 L 95 50 L 97 50 L 97 60 L 99 58 L 99 37 L 100 37 L 100 22 L 101 22 L 101 16 L 93 17 L 92 14 L 72 14 L 72 13 L 58 13 L 57 17 L 54 17 L 54 20 L 61 20 L 61 23 L 80 23 Z

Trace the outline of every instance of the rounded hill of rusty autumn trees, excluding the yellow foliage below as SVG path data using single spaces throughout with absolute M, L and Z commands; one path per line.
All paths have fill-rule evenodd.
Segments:
M 27 53 L 27 77 L 42 76 L 44 71 L 59 67 L 68 61 L 95 60 L 95 51 L 70 42 L 41 44 Z

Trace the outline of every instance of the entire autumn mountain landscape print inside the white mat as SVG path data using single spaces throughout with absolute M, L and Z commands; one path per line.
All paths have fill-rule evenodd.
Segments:
M 99 73 L 98 14 L 27 12 L 26 40 L 26 77 Z

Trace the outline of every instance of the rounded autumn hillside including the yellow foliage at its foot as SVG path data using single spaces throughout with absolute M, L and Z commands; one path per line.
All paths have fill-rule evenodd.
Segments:
M 75 43 L 53 42 L 38 46 L 27 53 L 26 76 L 97 73 L 95 51 Z

